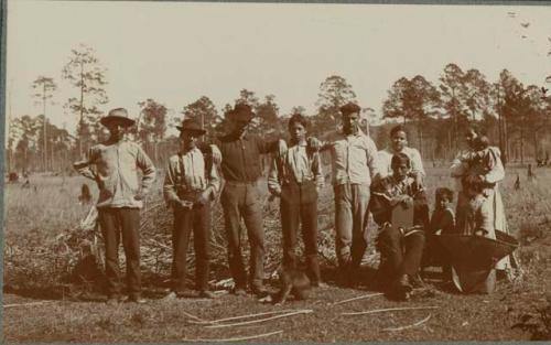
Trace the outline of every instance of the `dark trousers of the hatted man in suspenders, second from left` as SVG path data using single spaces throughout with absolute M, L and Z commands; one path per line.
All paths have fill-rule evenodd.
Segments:
M 186 209 L 174 208 L 174 227 L 172 229 L 172 280 L 173 291 L 183 292 L 187 273 L 187 245 L 193 231 L 195 250 L 195 288 L 199 291 L 208 289 L 208 237 L 210 234 L 210 204 Z

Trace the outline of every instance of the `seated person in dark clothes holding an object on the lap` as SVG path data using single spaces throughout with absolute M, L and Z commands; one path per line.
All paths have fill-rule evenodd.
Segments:
M 377 240 L 381 252 L 379 277 L 390 298 L 407 300 L 421 265 L 424 247 L 424 222 L 429 207 L 424 191 L 409 177 L 411 161 L 404 153 L 391 160 L 392 174 L 372 188 L 371 213 L 380 231 Z

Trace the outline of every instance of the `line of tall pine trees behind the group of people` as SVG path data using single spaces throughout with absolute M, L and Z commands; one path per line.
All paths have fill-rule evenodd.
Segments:
M 108 110 L 104 109 L 108 101 L 106 68 L 96 52 L 86 45 L 72 50 L 61 76 L 73 87 L 73 95 L 63 108 L 67 116 L 78 120 L 76 132 L 72 134 L 51 123 L 52 116 L 60 116 L 47 111 L 57 85 L 51 76 L 39 76 L 31 85 L 31 99 L 41 106 L 42 112 L 9 119 L 8 171 L 69 170 L 73 160 L 106 138 L 106 130 L 99 123 L 100 116 Z M 255 109 L 258 116 L 251 125 L 252 131 L 267 138 L 284 137 L 287 121 L 294 112 L 309 116 L 311 132 L 323 138 L 338 129 L 338 109 L 348 101 L 357 103 L 356 93 L 338 75 L 320 84 L 313 114 L 306 114 L 302 105 L 282 114 L 274 95 L 260 97 L 248 89 L 241 89 L 234 100 Z M 177 148 L 177 138 L 166 136 L 169 127 L 179 125 L 182 118 L 195 118 L 207 131 L 205 140 L 212 140 L 224 133 L 225 115 L 233 108 L 228 103 L 218 109 L 207 96 L 182 106 L 172 117 L 162 100 L 148 98 L 138 105 L 140 112 L 130 134 L 155 163 L 164 162 Z M 403 122 L 410 143 L 428 160 L 451 159 L 461 149 L 462 136 L 473 121 L 487 130 L 506 162 L 523 163 L 548 157 L 551 149 L 551 98 L 547 89 L 525 85 L 507 69 L 490 82 L 476 68 L 465 71 L 451 63 L 437 80 L 428 80 L 422 75 L 396 80 L 380 112 L 375 110 L 376 105 L 360 106 L 363 129 L 378 148 L 387 144 L 389 123 Z M 386 123 L 375 126 L 376 120 Z

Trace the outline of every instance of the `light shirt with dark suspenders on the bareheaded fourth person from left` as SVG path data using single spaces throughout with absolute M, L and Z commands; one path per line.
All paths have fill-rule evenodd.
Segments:
M 318 152 L 309 152 L 306 143 L 294 144 L 280 157 L 274 158 L 270 165 L 268 188 L 278 191 L 287 183 L 314 182 L 323 187 L 323 171 Z

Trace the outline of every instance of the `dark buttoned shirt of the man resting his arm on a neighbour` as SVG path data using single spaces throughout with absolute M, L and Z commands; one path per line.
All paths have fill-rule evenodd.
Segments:
M 256 182 L 262 175 L 260 154 L 268 153 L 276 147 L 274 142 L 252 134 L 241 138 L 227 134 L 220 137 L 216 145 L 222 152 L 224 179 L 233 182 Z

